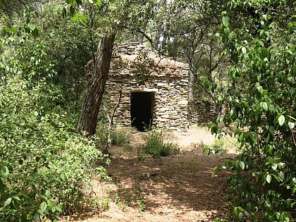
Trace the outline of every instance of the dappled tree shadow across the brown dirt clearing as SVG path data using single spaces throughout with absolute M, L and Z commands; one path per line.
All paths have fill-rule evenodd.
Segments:
M 183 216 L 191 212 L 187 221 L 194 221 L 191 217 L 197 214 L 204 214 L 197 221 L 213 221 L 226 213 L 226 172 L 211 178 L 214 167 L 223 163 L 219 156 L 193 149 L 160 160 L 113 156 L 111 162 L 108 171 L 117 185 L 142 187 L 146 214 L 178 216 L 186 221 Z

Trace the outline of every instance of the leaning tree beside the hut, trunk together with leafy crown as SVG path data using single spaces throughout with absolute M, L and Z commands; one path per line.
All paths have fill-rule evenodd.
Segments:
M 73 4 L 77 4 L 78 13 L 73 16 L 73 21 L 79 21 L 85 27 L 89 27 L 97 37 L 99 37 L 99 44 L 97 46 L 97 54 L 94 58 L 94 72 L 87 85 L 85 99 L 82 104 L 82 111 L 80 113 L 80 119 L 78 121 L 78 132 L 86 132 L 87 136 L 94 135 L 97 116 L 99 113 L 99 106 L 101 104 L 101 98 L 104 93 L 106 79 L 109 73 L 109 67 L 112 56 L 113 44 L 115 37 L 118 33 L 125 28 L 130 27 L 137 21 L 138 14 L 136 11 L 130 10 L 132 8 L 138 8 L 139 6 L 146 6 L 147 1 L 94 1 L 92 5 L 98 7 L 97 27 L 93 30 L 88 25 L 89 21 L 85 15 L 82 15 L 82 7 L 89 4 L 82 1 L 66 1 L 70 8 L 73 8 Z M 90 21 L 93 19 L 90 18 Z M 91 22 L 92 23 L 92 22 Z

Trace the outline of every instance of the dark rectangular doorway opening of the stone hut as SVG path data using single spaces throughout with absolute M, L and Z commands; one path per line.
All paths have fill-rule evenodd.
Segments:
M 132 126 L 139 131 L 148 130 L 152 124 L 152 97 L 151 92 L 132 92 L 130 96 Z

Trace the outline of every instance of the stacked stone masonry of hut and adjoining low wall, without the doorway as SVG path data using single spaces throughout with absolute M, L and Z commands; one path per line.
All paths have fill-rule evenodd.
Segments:
M 188 101 L 186 63 L 160 58 L 139 43 L 118 45 L 113 53 L 104 97 L 111 111 L 118 104 L 121 92 L 121 102 L 113 116 L 115 125 L 132 125 L 130 109 L 134 92 L 151 94 L 152 128 L 186 132 L 190 123 L 207 123 L 216 118 L 213 104 Z M 92 75 L 92 66 L 91 62 L 87 63 L 86 75 Z

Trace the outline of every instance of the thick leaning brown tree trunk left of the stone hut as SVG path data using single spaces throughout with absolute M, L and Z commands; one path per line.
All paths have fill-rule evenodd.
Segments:
M 101 37 L 94 62 L 94 73 L 87 85 L 85 100 L 82 105 L 77 132 L 86 132 L 87 137 L 94 135 L 97 126 L 99 106 L 103 97 L 109 73 L 115 34 Z

